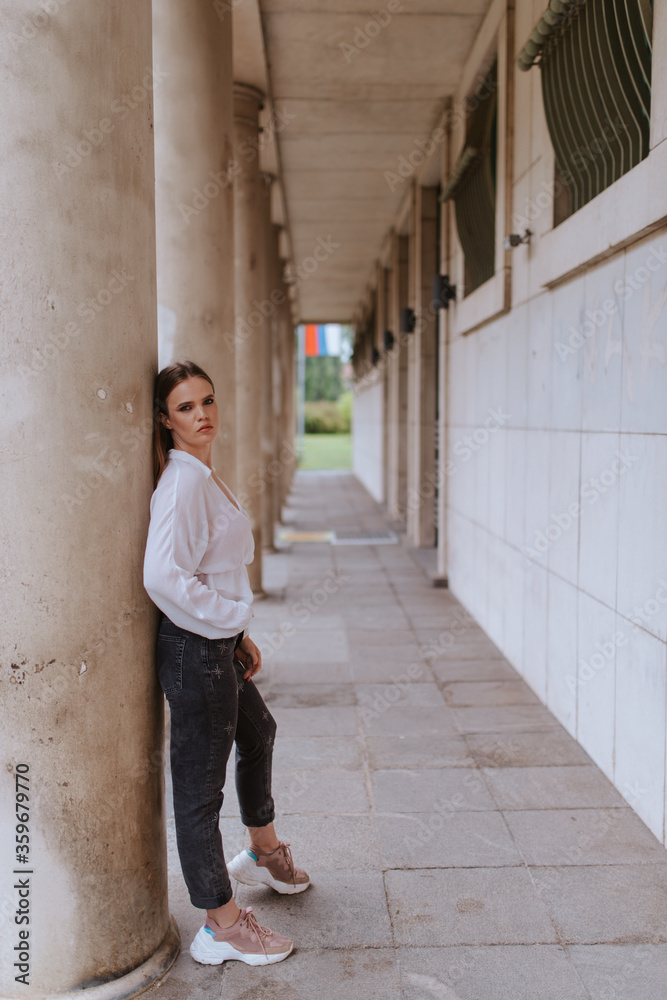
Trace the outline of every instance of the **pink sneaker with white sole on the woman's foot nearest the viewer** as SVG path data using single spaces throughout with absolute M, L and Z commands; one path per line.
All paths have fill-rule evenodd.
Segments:
M 207 917 L 190 945 L 190 954 L 202 965 L 220 965 L 230 958 L 246 965 L 273 965 L 287 958 L 293 947 L 289 938 L 258 924 L 248 906 L 231 927 L 220 927 Z

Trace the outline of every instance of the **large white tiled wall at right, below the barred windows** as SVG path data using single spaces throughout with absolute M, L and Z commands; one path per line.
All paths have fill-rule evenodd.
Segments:
M 667 232 L 455 338 L 450 366 L 450 453 L 506 414 L 449 480 L 451 588 L 664 841 Z

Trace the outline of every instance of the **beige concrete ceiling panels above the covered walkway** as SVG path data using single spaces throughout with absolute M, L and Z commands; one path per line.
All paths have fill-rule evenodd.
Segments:
M 338 244 L 300 282 L 302 321 L 349 322 L 356 312 L 405 194 L 385 172 L 437 124 L 489 4 L 230 3 L 235 79 L 261 87 L 281 116 L 261 163 L 282 179 L 277 211 L 292 260 L 312 256 L 318 239 Z

